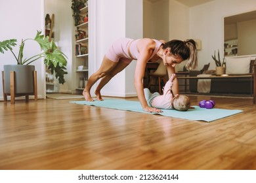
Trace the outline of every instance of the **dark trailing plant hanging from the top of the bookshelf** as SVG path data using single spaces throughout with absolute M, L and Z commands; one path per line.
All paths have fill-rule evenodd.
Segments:
M 73 17 L 75 21 L 75 26 L 81 24 L 80 10 L 85 7 L 87 0 L 72 0 L 71 8 L 73 10 Z

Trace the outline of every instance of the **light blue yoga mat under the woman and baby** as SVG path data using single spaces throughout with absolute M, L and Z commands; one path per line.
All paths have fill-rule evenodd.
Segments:
M 129 110 L 133 112 L 143 112 L 148 114 L 160 114 L 163 116 L 169 116 L 173 118 L 182 118 L 186 120 L 196 120 L 212 122 L 214 120 L 219 120 L 221 118 L 226 118 L 228 116 L 238 114 L 243 112 L 243 110 L 229 110 L 221 108 L 200 108 L 194 106 L 193 109 L 188 109 L 187 111 L 178 110 L 163 110 L 161 113 L 150 113 L 142 110 L 139 101 L 126 101 L 124 99 L 105 99 L 104 101 L 70 101 L 70 103 L 76 103 L 80 105 L 91 105 L 96 107 L 114 108 L 117 110 Z

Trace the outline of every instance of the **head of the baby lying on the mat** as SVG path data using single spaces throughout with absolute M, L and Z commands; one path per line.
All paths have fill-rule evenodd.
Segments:
M 173 107 L 176 110 L 186 111 L 190 107 L 190 98 L 186 95 L 176 95 L 173 100 Z

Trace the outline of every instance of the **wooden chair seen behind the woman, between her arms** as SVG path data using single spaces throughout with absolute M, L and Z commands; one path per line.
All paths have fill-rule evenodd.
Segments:
M 158 65 L 158 69 L 154 71 L 154 73 L 149 74 L 150 82 L 148 83 L 148 89 L 150 89 L 150 86 L 158 86 L 159 93 L 162 93 L 161 90 L 161 80 L 163 80 L 164 83 L 167 82 L 165 79 L 165 76 L 167 75 L 167 69 L 165 65 L 163 65 L 163 61 L 160 61 L 160 64 Z M 153 84 L 153 81 L 151 78 L 154 78 L 155 82 Z

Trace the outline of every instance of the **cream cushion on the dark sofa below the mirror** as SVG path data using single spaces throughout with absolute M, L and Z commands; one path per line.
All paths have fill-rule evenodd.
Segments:
M 225 58 L 226 74 L 248 74 L 251 57 L 245 58 Z

